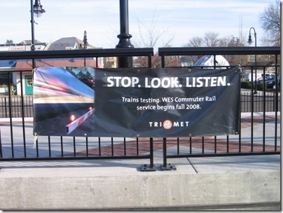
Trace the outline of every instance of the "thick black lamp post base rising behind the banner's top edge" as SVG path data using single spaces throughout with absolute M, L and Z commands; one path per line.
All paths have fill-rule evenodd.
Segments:
M 120 41 L 116 48 L 134 48 L 130 41 L 127 0 L 120 0 L 120 34 L 117 37 Z M 118 67 L 132 67 L 132 57 L 118 57 Z

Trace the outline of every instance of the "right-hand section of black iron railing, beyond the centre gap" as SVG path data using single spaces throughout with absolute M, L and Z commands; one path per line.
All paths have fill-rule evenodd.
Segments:
M 216 55 L 272 55 L 275 58 L 275 76 L 279 74 L 279 47 L 261 47 L 261 48 L 159 48 L 159 55 L 162 58 L 162 67 L 166 67 L 166 57 L 172 55 L 214 55 L 214 68 L 216 67 Z M 240 64 L 241 67 L 247 67 L 247 64 Z M 219 67 L 223 68 L 223 67 Z M 263 76 L 266 73 L 266 66 L 263 69 Z M 254 73 L 256 66 L 251 66 L 251 73 Z M 263 84 L 265 80 L 263 81 Z M 277 83 L 277 82 L 276 82 Z M 279 114 L 279 88 L 275 88 L 272 99 L 273 112 L 268 113 L 268 95 L 265 88 L 261 93 L 261 97 L 254 95 L 254 79 L 251 75 L 251 92 L 250 107 L 247 107 L 249 114 L 245 116 L 241 114 L 240 132 L 237 137 L 195 137 L 187 139 L 174 139 L 173 142 L 163 138 L 163 167 L 165 170 L 171 170 L 172 165 L 167 163 L 167 158 L 184 158 L 184 157 L 204 157 L 204 156 L 244 156 L 244 155 L 267 155 L 279 154 L 280 135 L 278 127 L 280 125 Z M 241 99 L 240 111 L 242 111 L 243 95 Z M 261 104 L 259 104 L 261 103 Z M 274 105 L 273 105 L 274 104 Z M 261 105 L 260 107 L 258 107 Z M 261 111 L 261 113 L 256 113 Z M 268 125 L 273 123 L 272 129 L 268 129 Z M 260 130 L 258 129 L 260 125 Z M 248 132 L 247 132 L 248 131 Z M 173 143 L 176 147 L 175 151 L 167 153 L 166 147 Z M 172 145 L 173 146 L 173 145 Z M 188 149 L 184 153 L 180 153 L 180 146 L 187 146 Z

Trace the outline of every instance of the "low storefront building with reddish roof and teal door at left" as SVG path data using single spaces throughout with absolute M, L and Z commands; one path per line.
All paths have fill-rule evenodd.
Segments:
M 76 50 L 83 48 L 83 41 L 76 37 L 62 38 L 50 43 L 35 40 L 34 43 L 36 51 Z M 88 44 L 86 48 L 95 47 Z M 25 40 L 21 43 L 0 44 L 0 51 L 30 51 L 31 49 L 32 42 L 30 40 Z M 102 67 L 101 62 L 102 60 L 96 63 L 95 57 L 41 59 L 36 60 L 36 67 Z M 20 88 L 21 79 L 24 81 L 22 90 Z M 32 95 L 32 60 L 0 60 L 0 95 L 8 93 L 7 85 L 9 81 L 15 95 Z

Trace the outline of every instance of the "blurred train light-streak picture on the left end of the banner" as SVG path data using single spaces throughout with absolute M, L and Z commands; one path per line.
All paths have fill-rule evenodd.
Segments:
M 90 67 L 34 69 L 34 133 L 89 135 L 95 109 L 94 79 L 95 70 Z M 76 122 L 78 118 L 83 120 Z

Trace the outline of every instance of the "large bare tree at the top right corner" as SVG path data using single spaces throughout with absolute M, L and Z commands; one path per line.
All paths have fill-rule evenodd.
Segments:
M 261 27 L 268 33 L 265 42 L 272 46 L 280 46 L 280 1 L 270 4 L 260 16 Z

